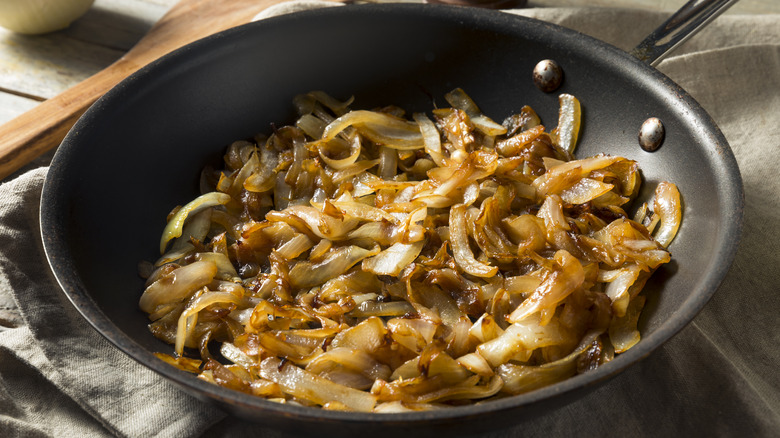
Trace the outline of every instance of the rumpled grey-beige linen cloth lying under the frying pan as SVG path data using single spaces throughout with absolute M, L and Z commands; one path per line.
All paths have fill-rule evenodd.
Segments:
M 318 6 L 283 4 L 259 18 Z M 511 12 L 623 49 L 667 16 Z M 710 113 L 737 157 L 745 223 L 736 260 L 704 310 L 649 358 L 572 404 L 480 436 L 780 435 L 780 16 L 722 16 L 659 69 Z M 43 253 L 46 170 L 0 185 L 0 436 L 283 437 L 183 393 L 84 321 Z

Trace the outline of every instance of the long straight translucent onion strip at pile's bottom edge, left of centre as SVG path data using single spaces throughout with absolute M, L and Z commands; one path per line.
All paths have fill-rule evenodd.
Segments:
M 333 383 L 276 357 L 260 363 L 260 375 L 277 383 L 282 391 L 319 405 L 335 400 L 359 412 L 371 412 L 376 405 L 376 397 L 367 392 Z

